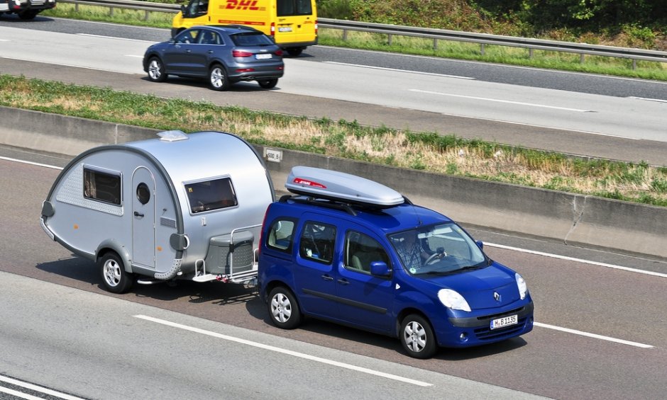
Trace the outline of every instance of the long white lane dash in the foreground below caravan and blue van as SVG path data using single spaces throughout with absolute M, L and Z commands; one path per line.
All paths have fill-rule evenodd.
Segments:
M 283 353 L 283 354 L 287 354 L 287 355 L 292 355 L 294 357 L 303 358 L 305 360 L 321 362 L 323 364 L 333 365 L 335 367 L 346 368 L 348 370 L 363 372 L 365 374 L 375 375 L 375 376 L 378 376 L 378 377 L 384 377 L 384 378 L 387 378 L 387 379 L 393 379 L 393 380 L 396 380 L 396 381 L 399 381 L 399 382 L 415 384 L 415 385 L 421 386 L 421 387 L 433 386 L 433 384 L 430 384 L 430 383 L 427 383 L 427 382 L 421 382 L 421 381 L 418 381 L 418 380 L 415 380 L 415 379 L 409 379 L 409 378 L 406 378 L 406 377 L 399 377 L 397 375 L 387 374 L 386 372 L 380 372 L 380 371 L 370 370 L 370 369 L 364 368 L 364 367 L 358 367 L 356 365 L 346 364 L 345 362 L 338 362 L 338 361 L 328 360 L 326 358 L 316 357 L 314 355 L 299 353 L 299 352 L 292 351 L 292 350 L 287 350 L 287 349 L 284 349 L 284 348 L 277 348 L 277 347 L 272 346 L 272 345 L 265 345 L 263 343 L 248 341 L 246 339 L 235 338 L 233 336 L 227 336 L 227 335 L 223 335 L 221 333 L 206 331 L 204 329 L 199 329 L 199 328 L 194 328 L 192 326 L 177 324 L 177 323 L 171 322 L 171 321 L 165 321 L 164 319 L 153 318 L 151 316 L 145 316 L 145 315 L 135 315 L 135 317 L 139 318 L 139 319 L 145 319 L 146 321 L 152 321 L 152 322 L 155 322 L 157 324 L 162 324 L 162 325 L 166 325 L 166 326 L 172 326 L 174 328 L 184 329 L 186 331 L 202 333 L 202 335 L 213 336 L 214 338 L 221 338 L 221 339 L 224 339 L 226 341 L 233 341 L 233 342 L 236 342 L 236 343 L 242 343 L 244 345 L 250 345 L 250 346 L 253 346 L 253 347 L 256 347 L 256 348 L 263 348 L 264 350 L 275 351 L 276 353 Z

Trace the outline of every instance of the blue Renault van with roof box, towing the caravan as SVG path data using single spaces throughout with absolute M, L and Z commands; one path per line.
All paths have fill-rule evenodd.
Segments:
M 258 286 L 272 323 L 304 316 L 398 337 L 408 355 L 503 341 L 533 328 L 525 280 L 456 222 L 385 185 L 292 168 L 267 209 Z

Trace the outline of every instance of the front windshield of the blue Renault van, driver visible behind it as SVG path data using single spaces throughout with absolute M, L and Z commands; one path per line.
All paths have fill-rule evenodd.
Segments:
M 451 222 L 399 232 L 389 239 L 412 275 L 450 275 L 489 265 L 473 238 Z

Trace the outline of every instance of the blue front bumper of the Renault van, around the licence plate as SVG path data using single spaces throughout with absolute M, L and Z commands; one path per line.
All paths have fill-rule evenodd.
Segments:
M 521 336 L 533 329 L 532 300 L 499 310 L 495 314 L 469 317 L 449 317 L 434 324 L 438 342 L 443 347 L 463 348 L 504 341 Z M 517 324 L 491 329 L 491 321 L 503 316 L 517 315 Z

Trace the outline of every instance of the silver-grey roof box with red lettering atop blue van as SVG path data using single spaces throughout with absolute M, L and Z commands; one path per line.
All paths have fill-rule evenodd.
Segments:
M 285 188 L 297 195 L 387 208 L 405 202 L 403 195 L 360 176 L 309 166 L 294 166 Z

